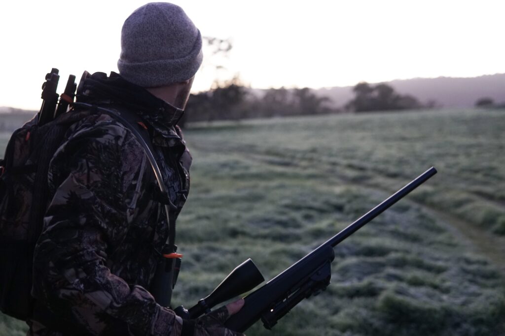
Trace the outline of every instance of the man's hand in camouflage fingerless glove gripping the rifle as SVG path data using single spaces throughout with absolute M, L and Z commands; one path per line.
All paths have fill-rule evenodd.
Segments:
M 195 320 L 184 320 L 184 323 L 194 323 L 193 336 L 245 336 L 224 326 L 224 322 L 231 315 L 237 313 L 243 305 L 244 299 L 239 299 Z M 187 334 L 184 323 L 182 335 Z

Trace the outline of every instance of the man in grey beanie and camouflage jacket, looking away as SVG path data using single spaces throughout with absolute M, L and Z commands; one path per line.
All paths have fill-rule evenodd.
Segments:
M 175 216 L 188 194 L 191 164 L 176 122 L 201 60 L 200 32 L 184 11 L 147 4 L 123 25 L 120 75 L 96 73 L 77 93 L 78 102 L 139 118 Z M 183 320 L 149 293 L 168 236 L 164 207 L 139 141 L 117 118 L 94 109 L 69 112 L 84 117 L 69 128 L 49 167 L 29 334 L 236 335 L 223 323 L 243 300 Z

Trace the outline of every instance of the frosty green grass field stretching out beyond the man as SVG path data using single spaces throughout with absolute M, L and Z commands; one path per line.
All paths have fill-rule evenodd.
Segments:
M 272 279 L 433 165 L 335 248 L 325 292 L 247 334 L 505 335 L 504 129 L 502 111 L 475 110 L 193 125 L 173 301 L 192 306 L 248 257 Z

